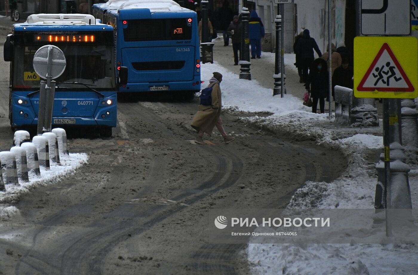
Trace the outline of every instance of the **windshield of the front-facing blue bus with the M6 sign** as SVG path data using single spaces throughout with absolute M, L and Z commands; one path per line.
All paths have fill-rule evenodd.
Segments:
M 19 44 L 14 51 L 13 88 L 33 90 L 39 88 L 39 76 L 33 70 L 33 55 L 42 45 Z M 64 73 L 57 82 L 78 82 L 92 85 L 94 89 L 115 90 L 113 46 L 87 44 L 57 45 L 66 58 Z M 85 90 L 77 84 L 59 84 L 60 88 Z M 59 91 L 60 89 L 58 89 Z

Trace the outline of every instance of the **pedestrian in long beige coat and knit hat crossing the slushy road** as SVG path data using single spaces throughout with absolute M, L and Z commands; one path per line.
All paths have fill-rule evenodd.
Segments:
M 213 128 L 216 126 L 226 144 L 230 143 L 235 137 L 227 135 L 224 130 L 221 119 L 222 111 L 222 94 L 220 83 L 222 81 L 222 74 L 218 72 L 213 73 L 212 79 L 209 80 L 208 87 L 212 87 L 212 105 L 199 105 L 199 110 L 194 115 L 191 127 L 197 132 L 195 143 L 206 144 L 203 140 L 203 134 L 212 135 Z

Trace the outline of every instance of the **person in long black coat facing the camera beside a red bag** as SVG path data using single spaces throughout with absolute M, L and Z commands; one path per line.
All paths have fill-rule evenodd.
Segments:
M 312 97 L 312 112 L 316 113 L 316 107 L 319 101 L 321 114 L 325 112 L 325 98 L 328 97 L 328 66 L 326 61 L 317 58 L 312 62 L 309 76 L 305 87 Z

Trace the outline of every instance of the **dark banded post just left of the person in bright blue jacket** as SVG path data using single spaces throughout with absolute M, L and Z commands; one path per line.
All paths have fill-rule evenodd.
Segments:
M 241 38 L 241 61 L 240 61 L 240 79 L 251 80 L 250 73 L 250 37 L 248 35 L 248 17 L 250 12 L 247 8 L 243 7 L 241 11 L 242 15 L 242 38 Z

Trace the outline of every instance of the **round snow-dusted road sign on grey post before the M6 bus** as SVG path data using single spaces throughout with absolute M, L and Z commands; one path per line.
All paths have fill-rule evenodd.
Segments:
M 51 132 L 52 112 L 54 109 L 55 81 L 66 67 L 64 53 L 53 45 L 45 45 L 33 56 L 33 69 L 46 81 L 41 81 L 39 89 L 38 135 Z

